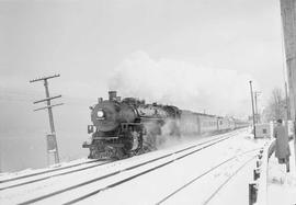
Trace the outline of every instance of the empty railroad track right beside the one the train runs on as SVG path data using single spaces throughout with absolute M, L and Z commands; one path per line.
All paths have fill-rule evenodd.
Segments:
M 152 172 L 152 171 L 160 169 L 164 166 L 168 166 L 174 161 L 181 160 L 187 156 L 191 156 L 191 155 L 196 153 L 203 149 L 212 147 L 212 146 L 214 146 L 218 143 L 221 143 L 221 141 L 224 141 L 232 136 L 236 136 L 236 135 L 237 135 L 237 132 L 234 132 L 230 134 L 224 134 L 220 137 L 217 137 L 215 139 L 203 141 L 203 143 L 186 147 L 184 149 L 181 149 L 181 150 L 178 150 L 174 152 L 166 153 L 163 156 L 160 156 L 160 157 L 157 157 L 157 158 L 153 158 L 153 159 L 150 159 L 150 160 L 137 163 L 137 164 L 133 164 L 133 166 L 126 167 L 124 169 L 118 169 L 118 170 L 115 170 L 113 172 L 83 181 L 81 183 L 76 183 L 73 185 L 69 185 L 68 187 L 52 191 L 50 193 L 46 193 L 46 194 L 39 195 L 37 197 L 31 197 L 30 200 L 21 201 L 22 203 L 20 203 L 20 204 L 46 203 L 47 200 L 57 202 L 59 204 L 60 203 L 73 204 L 73 203 L 83 201 L 84 198 L 88 198 L 90 196 L 93 196 L 95 194 L 99 194 L 100 192 L 102 192 L 104 190 L 115 187 L 115 186 L 123 184 L 125 182 L 128 182 L 135 178 L 147 174 L 149 172 Z M 151 164 L 152 164 L 152 167 L 151 167 Z M 137 173 L 134 174 L 134 173 L 132 173 L 132 170 L 133 171 L 139 170 L 139 171 L 137 171 Z M 116 180 L 114 181 L 114 179 L 116 179 Z M 90 187 L 90 186 L 95 187 L 95 189 L 92 190 L 91 192 L 84 191 L 84 190 L 88 190 L 84 187 Z M 67 196 L 67 194 L 69 194 L 70 192 L 79 193 L 78 194 L 79 197 L 76 197 L 71 201 L 62 202 L 62 201 L 65 201 L 65 198 L 67 198 L 65 196 Z

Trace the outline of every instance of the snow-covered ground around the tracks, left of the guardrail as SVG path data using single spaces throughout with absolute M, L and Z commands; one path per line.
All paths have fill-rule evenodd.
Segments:
M 48 194 L 48 197 L 37 202 L 39 204 L 60 204 L 87 195 L 90 192 L 94 194 L 86 197 L 83 201 L 79 201 L 79 203 L 248 204 L 248 183 L 252 178 L 253 159 L 258 155 L 258 149 L 263 146 L 265 140 L 253 140 L 247 130 L 235 132 L 235 137 L 184 158 L 180 157 L 184 153 L 190 153 L 192 150 L 175 153 L 169 158 L 136 169 L 128 169 L 159 156 L 196 145 L 197 141 L 183 143 L 182 145 L 167 147 L 146 155 L 88 169 L 83 172 L 58 175 L 45 181 L 3 190 L 0 191 L 0 204 L 21 203 Z M 200 139 L 198 143 L 205 140 Z M 168 164 L 147 172 L 147 170 L 166 162 Z M 31 172 L 35 173 L 36 171 Z M 100 176 L 114 172 L 118 173 L 98 180 Z M 145 173 L 138 174 L 130 181 L 116 184 L 118 181 L 123 181 L 139 172 Z M 5 174 L 1 176 L 1 180 L 12 176 L 13 174 Z M 75 187 L 86 181 L 94 182 L 81 187 Z M 116 185 L 111 187 L 111 184 Z M 59 192 L 60 190 L 64 191 L 50 196 L 50 193 Z

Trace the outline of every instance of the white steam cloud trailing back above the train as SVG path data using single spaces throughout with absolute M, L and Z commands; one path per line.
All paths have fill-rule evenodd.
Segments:
M 110 89 L 123 98 L 217 115 L 244 117 L 249 110 L 250 76 L 172 59 L 151 59 L 137 52 L 125 59 L 110 79 Z

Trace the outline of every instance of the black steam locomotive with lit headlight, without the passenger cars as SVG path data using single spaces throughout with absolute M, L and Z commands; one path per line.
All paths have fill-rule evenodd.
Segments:
M 175 106 L 146 104 L 135 98 L 121 100 L 116 91 L 110 91 L 109 100 L 99 98 L 90 109 L 91 141 L 82 147 L 90 149 L 92 159 L 122 159 L 153 149 L 164 124 L 170 127 L 169 135 L 180 135 L 181 111 Z

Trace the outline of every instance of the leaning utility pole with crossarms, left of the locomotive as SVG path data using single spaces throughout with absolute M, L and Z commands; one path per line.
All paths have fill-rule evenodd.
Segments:
M 61 95 L 57 95 L 57 96 L 50 96 L 49 95 L 48 79 L 57 78 L 57 77 L 59 77 L 59 75 L 37 78 L 37 79 L 34 79 L 34 80 L 30 81 L 30 82 L 44 81 L 46 99 L 35 101 L 34 104 L 37 104 L 37 103 L 41 103 L 41 102 L 46 102 L 47 106 L 36 109 L 34 111 L 42 111 L 42 110 L 47 110 L 48 111 L 50 135 L 47 135 L 47 153 L 54 152 L 54 155 L 55 155 L 55 163 L 59 163 L 59 155 L 58 155 L 58 146 L 57 146 L 57 139 L 56 139 L 56 129 L 55 129 L 55 124 L 54 124 L 53 107 L 62 105 L 64 103 L 52 104 L 52 102 L 50 102 L 52 100 L 61 98 Z

